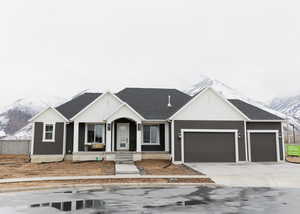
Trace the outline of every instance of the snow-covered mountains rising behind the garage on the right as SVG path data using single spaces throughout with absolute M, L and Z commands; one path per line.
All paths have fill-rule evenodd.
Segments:
M 300 96 L 298 96 L 298 102 L 295 97 L 290 99 L 275 99 L 268 105 L 249 98 L 248 96 L 240 93 L 238 90 L 233 89 L 223 82 L 209 78 L 205 75 L 199 76 L 199 82 L 187 89 L 185 92 L 189 95 L 195 95 L 205 87 L 212 87 L 219 93 L 221 93 L 227 99 L 240 99 L 259 108 L 262 108 L 270 113 L 278 115 L 281 118 L 287 118 L 290 123 L 294 124 L 298 130 L 300 130 Z M 293 107 L 291 106 L 293 104 Z M 293 113 L 290 113 L 293 112 Z

